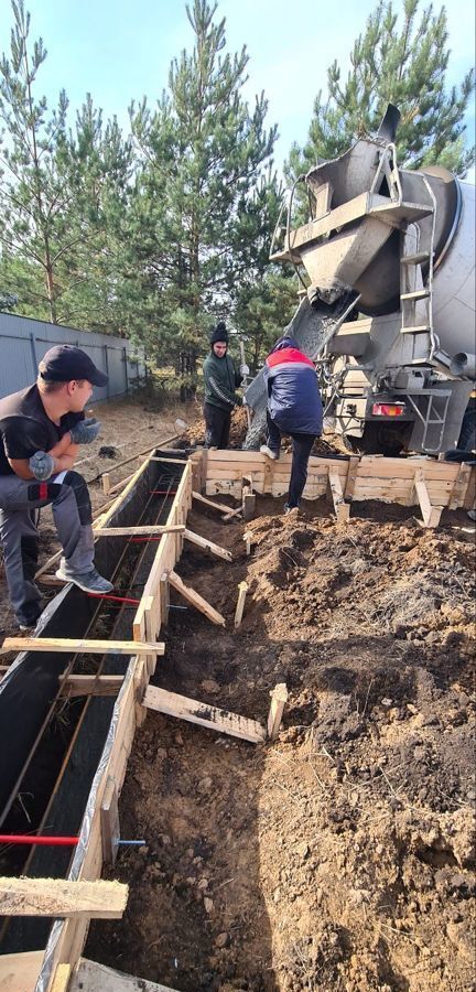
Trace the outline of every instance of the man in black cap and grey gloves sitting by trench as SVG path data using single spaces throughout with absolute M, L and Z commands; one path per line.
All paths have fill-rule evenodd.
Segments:
M 108 377 L 73 345 L 57 345 L 40 363 L 34 386 L 0 400 L 0 538 L 10 600 L 22 629 L 42 612 L 34 584 L 37 565 L 36 510 L 52 504 L 63 558 L 56 575 L 93 593 L 112 585 L 94 567 L 89 493 L 72 471 L 79 444 L 100 424 L 85 419 L 93 386 Z

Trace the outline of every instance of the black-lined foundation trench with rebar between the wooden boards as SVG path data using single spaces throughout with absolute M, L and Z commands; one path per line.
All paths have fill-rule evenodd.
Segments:
M 164 453 L 166 457 L 166 453 Z M 111 526 L 163 524 L 180 465 L 150 462 Z M 156 550 L 153 541 L 101 539 L 95 563 L 119 596 L 139 600 Z M 132 639 L 137 606 L 88 597 L 66 586 L 48 604 L 40 636 Z M 0 823 L 4 833 L 77 835 L 109 731 L 115 697 L 61 696 L 63 672 L 125 675 L 123 655 L 19 655 L 0 683 Z M 76 848 L 0 848 L 0 872 L 30 877 L 67 876 Z M 52 920 L 0 918 L 0 953 L 41 949 Z

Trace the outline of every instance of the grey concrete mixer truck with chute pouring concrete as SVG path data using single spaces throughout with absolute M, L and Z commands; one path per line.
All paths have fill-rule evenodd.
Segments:
M 301 302 L 285 330 L 316 362 L 349 446 L 437 454 L 456 448 L 475 386 L 475 190 L 440 166 L 399 168 L 399 118 L 390 105 L 375 138 L 299 177 L 310 220 L 292 229 L 290 204 L 271 259 L 296 269 Z M 252 448 L 262 373 L 246 397 Z

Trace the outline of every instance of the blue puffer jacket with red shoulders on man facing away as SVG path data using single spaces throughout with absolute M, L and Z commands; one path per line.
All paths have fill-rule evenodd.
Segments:
M 323 409 L 314 363 L 293 337 L 283 337 L 264 367 L 268 410 L 284 434 L 321 435 Z

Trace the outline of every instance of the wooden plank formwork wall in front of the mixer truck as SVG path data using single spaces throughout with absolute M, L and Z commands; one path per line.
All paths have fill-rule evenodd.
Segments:
M 260 452 L 208 451 L 203 456 L 201 478 L 207 496 L 242 497 L 244 481 L 256 493 L 284 496 L 292 455 L 272 461 Z M 468 465 L 428 457 L 387 459 L 311 457 L 304 499 L 331 494 L 337 518 L 346 520 L 357 500 L 381 499 L 403 506 L 420 506 L 423 524 L 435 527 L 442 509 L 470 508 L 475 498 L 475 472 Z

